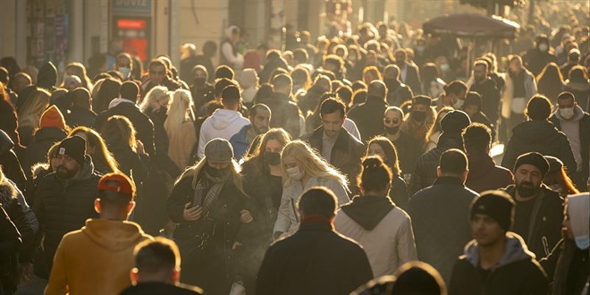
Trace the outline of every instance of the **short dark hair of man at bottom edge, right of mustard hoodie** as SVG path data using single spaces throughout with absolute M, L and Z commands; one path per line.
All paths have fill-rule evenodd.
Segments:
M 139 274 L 170 272 L 181 266 L 181 255 L 172 240 L 156 237 L 145 240 L 135 248 L 135 265 Z

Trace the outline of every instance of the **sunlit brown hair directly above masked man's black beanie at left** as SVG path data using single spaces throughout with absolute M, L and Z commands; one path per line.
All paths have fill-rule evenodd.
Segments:
M 86 154 L 92 157 L 94 170 L 102 174 L 119 173 L 117 160 L 114 159 L 113 154 L 106 147 L 105 140 L 97 131 L 88 127 L 78 126 L 70 132 L 68 137 L 74 135 L 86 139 Z

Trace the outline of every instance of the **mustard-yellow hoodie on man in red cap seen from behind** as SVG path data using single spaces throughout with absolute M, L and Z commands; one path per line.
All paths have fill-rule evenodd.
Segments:
M 137 223 L 87 220 L 63 236 L 45 293 L 119 294 L 131 285 L 133 249 L 143 240 L 153 238 Z

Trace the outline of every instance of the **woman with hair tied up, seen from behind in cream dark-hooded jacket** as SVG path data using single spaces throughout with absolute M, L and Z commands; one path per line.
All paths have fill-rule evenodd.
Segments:
M 365 157 L 358 175 L 362 195 L 341 206 L 334 220 L 338 232 L 363 246 L 375 277 L 417 259 L 409 215 L 387 198 L 392 177 L 380 156 Z

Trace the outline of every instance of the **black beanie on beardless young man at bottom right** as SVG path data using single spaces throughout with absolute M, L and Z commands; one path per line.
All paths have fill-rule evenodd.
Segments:
M 476 214 L 492 217 L 508 232 L 514 224 L 514 201 L 505 191 L 485 190 L 471 205 L 471 219 Z

